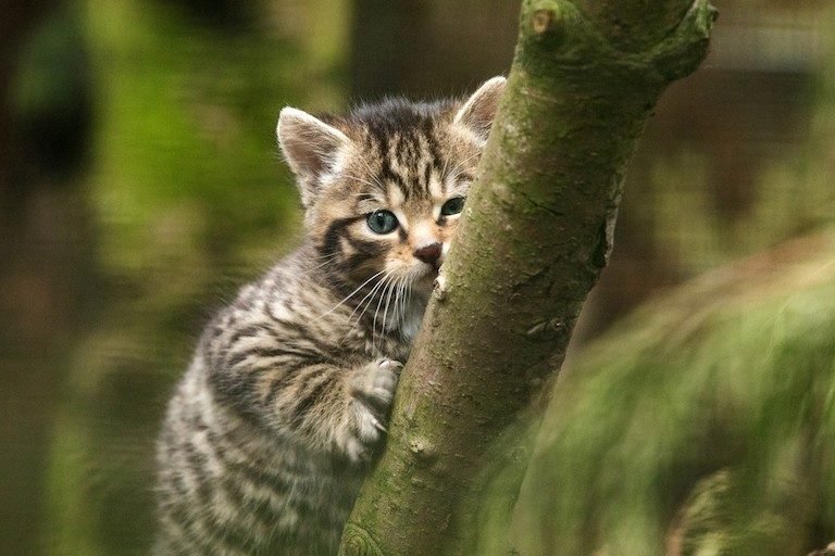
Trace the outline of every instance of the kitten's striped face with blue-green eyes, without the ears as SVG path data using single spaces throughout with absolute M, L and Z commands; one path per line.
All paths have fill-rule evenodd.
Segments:
M 481 155 L 479 144 L 451 128 L 451 117 L 423 129 L 354 130 L 354 147 L 325 177 L 308 231 L 351 285 L 383 273 L 431 288 Z

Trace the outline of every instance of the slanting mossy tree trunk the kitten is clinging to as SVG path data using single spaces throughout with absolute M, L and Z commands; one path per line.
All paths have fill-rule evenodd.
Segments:
M 715 13 L 705 0 L 634 4 L 523 2 L 479 176 L 340 554 L 460 552 L 485 458 L 526 465 L 507 431 L 541 413 L 609 258 L 637 138 L 702 60 Z

